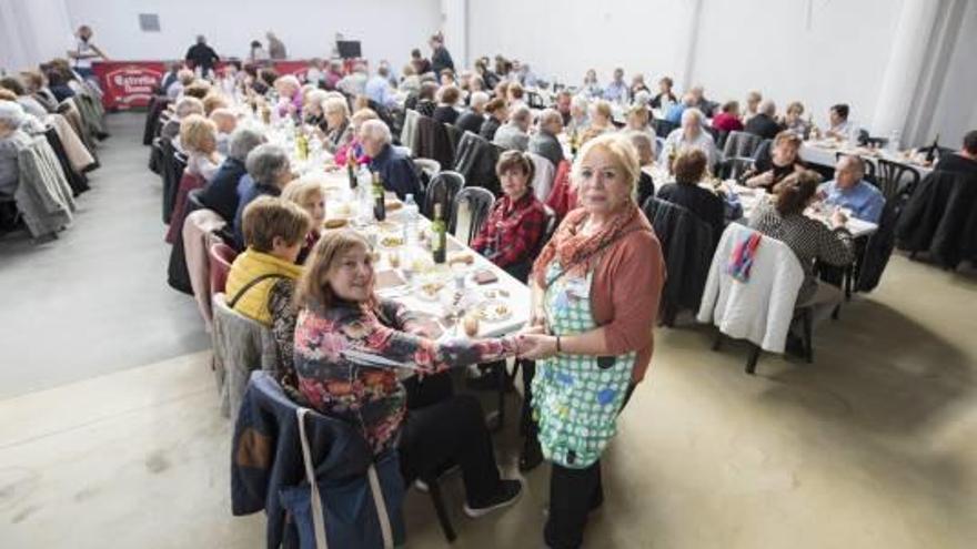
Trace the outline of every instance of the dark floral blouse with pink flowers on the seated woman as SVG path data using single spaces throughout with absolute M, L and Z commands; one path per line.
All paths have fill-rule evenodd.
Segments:
M 404 419 L 406 396 L 397 378 L 400 368 L 366 366 L 374 355 L 422 374 L 449 367 L 488 363 L 513 356 L 515 339 L 432 340 L 410 334 L 413 318 L 406 307 L 381 301 L 375 309 L 336 303 L 326 311 L 299 312 L 294 365 L 299 392 L 323 414 L 360 425 L 374 453 L 396 444 Z

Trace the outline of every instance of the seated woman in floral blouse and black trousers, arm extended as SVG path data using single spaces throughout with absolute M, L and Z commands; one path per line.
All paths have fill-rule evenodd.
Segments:
M 407 413 L 397 369 L 423 375 L 505 358 L 516 339 L 429 339 L 405 307 L 376 297 L 374 283 L 362 236 L 320 238 L 296 287 L 299 392 L 311 407 L 360 426 L 375 454 L 395 448 L 406 482 L 459 464 L 470 517 L 514 502 L 522 484 L 500 478 L 477 400 L 454 396 Z

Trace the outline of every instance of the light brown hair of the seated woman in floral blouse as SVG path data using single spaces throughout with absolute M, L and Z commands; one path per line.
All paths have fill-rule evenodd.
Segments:
M 295 306 L 330 307 L 335 295 L 325 278 L 343 255 L 356 248 L 370 251 L 370 243 L 360 233 L 326 231 L 305 260 L 305 270 L 295 285 Z

